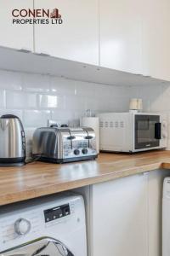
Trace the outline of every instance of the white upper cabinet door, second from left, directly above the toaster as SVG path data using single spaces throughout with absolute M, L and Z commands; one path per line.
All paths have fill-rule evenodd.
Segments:
M 35 25 L 35 50 L 59 58 L 99 63 L 97 0 L 35 0 L 36 9 L 59 9 L 62 24 Z

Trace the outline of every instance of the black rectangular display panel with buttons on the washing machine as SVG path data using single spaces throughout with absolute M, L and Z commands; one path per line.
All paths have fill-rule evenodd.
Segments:
M 45 222 L 54 221 L 58 218 L 63 218 L 71 214 L 71 208 L 69 204 L 65 204 L 59 207 L 54 207 L 44 211 Z

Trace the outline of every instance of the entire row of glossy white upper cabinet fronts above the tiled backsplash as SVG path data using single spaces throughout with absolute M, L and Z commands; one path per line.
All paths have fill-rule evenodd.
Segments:
M 14 9 L 45 24 L 13 24 L 33 21 Z M 170 81 L 169 10 L 169 0 L 3 0 L 0 46 Z

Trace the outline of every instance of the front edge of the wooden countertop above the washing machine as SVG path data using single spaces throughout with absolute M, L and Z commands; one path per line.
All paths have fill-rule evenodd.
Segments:
M 78 189 L 84 186 L 93 185 L 95 183 L 107 182 L 117 178 L 128 177 L 144 172 L 154 171 L 156 169 L 170 169 L 170 163 L 158 162 L 139 167 L 129 167 L 126 170 L 105 173 L 104 175 L 99 175 L 95 177 L 88 177 L 60 184 L 46 185 L 42 188 L 37 189 L 27 189 L 24 194 L 23 191 L 21 191 L 13 193 L 11 195 L 4 195 L 3 198 L 1 198 L 0 200 L 0 207 L 14 202 L 31 200 L 45 195 L 53 195 L 55 193 L 64 192 L 70 189 Z

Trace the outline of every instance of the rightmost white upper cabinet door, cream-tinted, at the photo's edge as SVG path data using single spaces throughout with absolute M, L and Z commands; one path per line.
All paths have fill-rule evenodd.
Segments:
M 145 0 L 143 6 L 144 75 L 170 81 L 170 1 Z

